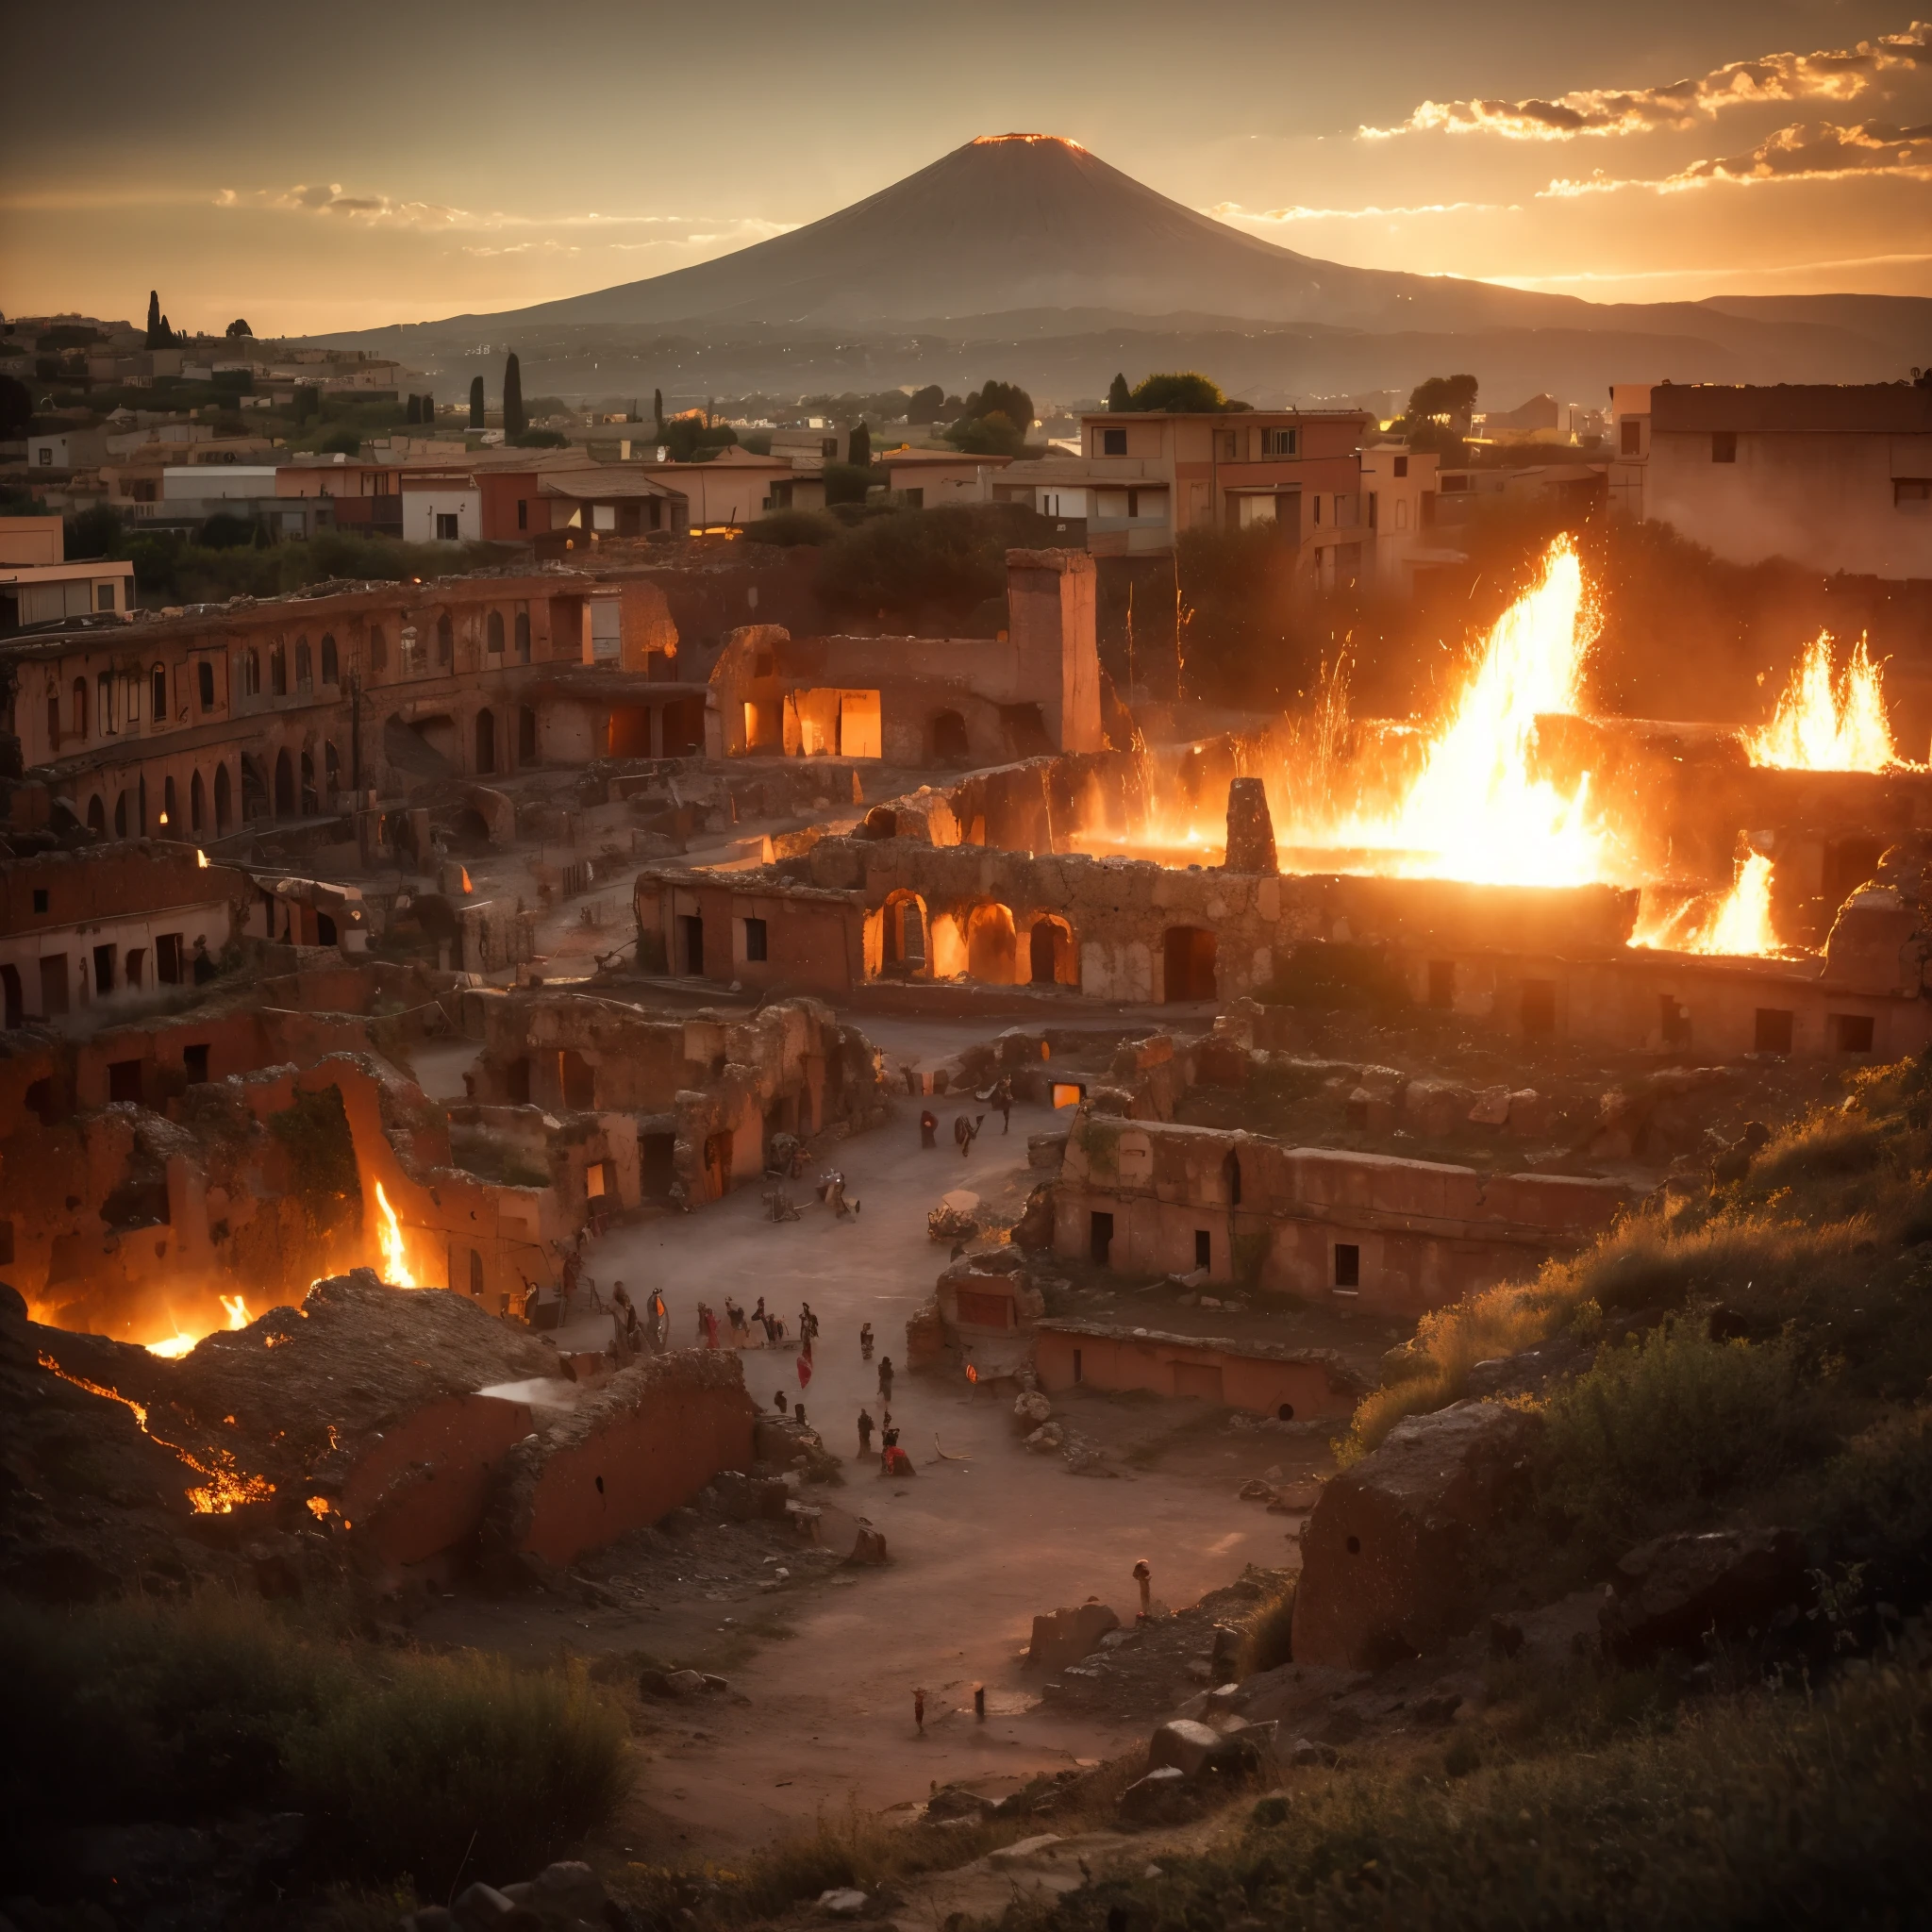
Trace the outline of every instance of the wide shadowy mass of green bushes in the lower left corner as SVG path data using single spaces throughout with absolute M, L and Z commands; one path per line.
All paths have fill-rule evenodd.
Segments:
M 624 1787 L 624 1723 L 580 1675 L 379 1652 L 218 1596 L 0 1605 L 0 1735 L 33 1739 L 0 1754 L 21 1872 L 70 1824 L 299 1810 L 328 1876 L 444 1895 L 560 1857 Z

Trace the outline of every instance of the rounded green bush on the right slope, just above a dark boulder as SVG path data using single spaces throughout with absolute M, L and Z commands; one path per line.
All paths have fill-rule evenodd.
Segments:
M 1654 1329 L 1605 1350 L 1544 1405 L 1540 1488 L 1586 1548 L 1774 1482 L 1830 1439 L 1789 1341 Z

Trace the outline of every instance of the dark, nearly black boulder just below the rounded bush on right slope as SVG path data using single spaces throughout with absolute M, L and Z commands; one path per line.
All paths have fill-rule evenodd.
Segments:
M 1702 1650 L 1704 1633 L 1762 1631 L 1804 1592 L 1795 1530 L 1712 1530 L 1660 1536 L 1617 1563 L 1604 1604 L 1604 1650 L 1638 1660 Z

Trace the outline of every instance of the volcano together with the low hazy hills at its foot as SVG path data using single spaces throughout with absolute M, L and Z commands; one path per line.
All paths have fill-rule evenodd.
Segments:
M 692 269 L 327 340 L 466 375 L 458 365 L 473 357 L 479 325 L 497 342 L 516 338 L 526 390 L 535 381 L 562 394 L 659 386 L 667 365 L 667 392 L 696 394 L 952 386 L 956 367 L 958 381 L 1005 375 L 1065 398 L 1105 388 L 1115 367 L 1134 377 L 1209 344 L 1221 350 L 1211 373 L 1238 394 L 1399 388 L 1453 363 L 1505 406 L 1538 388 L 1602 402 L 1611 381 L 1665 375 L 1895 381 L 1932 361 L 1932 299 L 1592 303 L 1349 269 L 1211 220 L 1072 141 L 1022 133 L 981 135 L 837 214 Z M 1140 371 L 1109 359 L 1109 338 L 1122 334 L 1140 338 Z M 678 338 L 674 354 L 665 338 Z M 838 338 L 825 361 L 846 379 L 808 375 L 813 346 Z M 995 367 L 987 357 L 1007 346 Z

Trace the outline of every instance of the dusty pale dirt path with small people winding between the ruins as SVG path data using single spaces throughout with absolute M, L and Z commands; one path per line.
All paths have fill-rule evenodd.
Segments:
M 954 1109 L 935 1111 L 951 1128 Z M 587 1252 L 587 1269 L 603 1287 L 622 1277 L 639 1300 L 639 1289 L 661 1287 L 678 1345 L 690 1341 L 699 1298 L 721 1306 L 734 1294 L 750 1308 L 765 1294 L 794 1331 L 798 1304 L 810 1300 L 823 1331 L 808 1414 L 831 1447 L 856 1457 L 860 1405 L 879 1416 L 875 1368 L 860 1362 L 860 1323 L 873 1323 L 879 1354 L 902 1356 L 906 1316 L 947 1260 L 927 1238 L 927 1209 L 958 1186 L 985 1198 L 1016 1190 L 1024 1200 L 1036 1179 L 1026 1134 L 1055 1117 L 1016 1107 L 1003 1136 L 995 1115 L 964 1161 L 949 1144 L 922 1151 L 916 1122 L 918 1109 L 900 1103 L 893 1124 L 835 1148 L 848 1194 L 862 1202 L 848 1221 L 833 1221 L 802 1184 L 794 1192 L 810 1202 L 804 1219 L 771 1225 L 761 1219 L 761 1190 L 746 1186 L 694 1215 L 611 1231 Z M 779 1387 L 796 1397 L 794 1352 L 748 1350 L 746 1381 L 767 1406 Z M 782 1615 L 796 1636 L 732 1669 L 732 1689 L 748 1704 L 663 1708 L 630 1818 L 639 1853 L 647 1845 L 723 1853 L 848 1801 L 879 1810 L 923 1799 L 935 1781 L 1022 1776 L 1122 1750 L 1144 1735 L 1142 1723 L 1078 1719 L 1039 1702 L 1039 1673 L 1020 1665 L 1034 1613 L 1090 1594 L 1130 1611 L 1128 1573 L 1142 1555 L 1153 1563 L 1157 1594 L 1173 1604 L 1229 1582 L 1250 1561 L 1291 1561 L 1289 1524 L 1235 1495 L 1260 1453 L 1242 1447 L 1236 1459 L 1235 1439 L 1217 1453 L 1225 1474 L 1122 1470 L 1107 1480 L 1068 1476 L 1059 1459 L 1030 1455 L 1005 1401 L 951 1379 L 900 1374 L 893 1412 L 918 1476 L 883 1482 L 875 1464 L 854 1461 L 846 1486 L 829 1492 L 840 1509 L 885 1530 L 891 1565 L 750 1598 Z M 962 1461 L 939 1461 L 935 1434 Z M 715 1636 L 746 1621 L 744 1602 L 738 1590 L 719 1592 Z M 452 1604 L 423 1634 L 512 1654 L 554 1656 L 560 1642 L 663 1654 L 674 1638 L 699 1634 L 697 1615 L 701 1605 L 668 1619 Z M 974 1683 L 989 1692 L 993 1716 L 983 1725 L 970 1716 Z M 912 1723 L 920 1685 L 923 1739 Z

